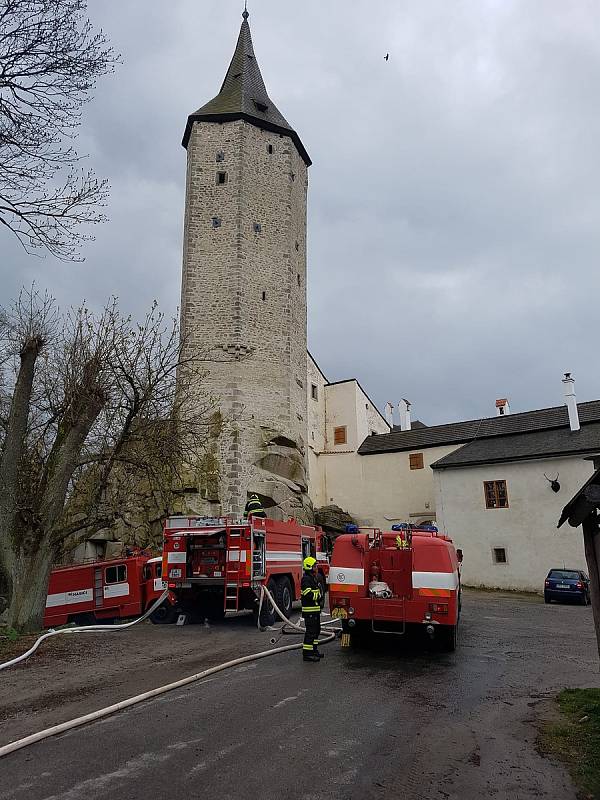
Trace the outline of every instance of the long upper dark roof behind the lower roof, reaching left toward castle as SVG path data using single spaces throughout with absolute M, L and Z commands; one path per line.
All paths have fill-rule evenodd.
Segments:
M 581 425 L 600 422 L 600 400 L 578 403 Z M 525 411 L 500 417 L 483 417 L 467 422 L 452 422 L 448 425 L 432 425 L 410 431 L 392 431 L 379 436 L 370 436 L 359 447 L 360 455 L 394 453 L 407 450 L 424 450 L 428 447 L 460 445 L 474 439 L 491 439 L 496 436 L 533 431 L 551 430 L 569 426 L 566 406 L 544 408 L 540 411 Z M 570 428 L 569 428 L 570 432 Z

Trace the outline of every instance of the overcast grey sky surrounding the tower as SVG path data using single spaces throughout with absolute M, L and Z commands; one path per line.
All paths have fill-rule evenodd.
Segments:
M 83 264 L 0 231 L 2 302 L 179 302 L 187 115 L 219 90 L 237 0 L 91 0 L 123 55 L 79 149 L 110 180 Z M 436 424 L 600 398 L 596 0 L 251 0 L 258 61 L 313 166 L 309 344 Z M 389 61 L 384 61 L 386 53 Z

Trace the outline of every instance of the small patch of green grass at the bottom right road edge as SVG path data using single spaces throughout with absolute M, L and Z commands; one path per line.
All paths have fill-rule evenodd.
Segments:
M 560 718 L 544 727 L 542 750 L 566 763 L 582 798 L 600 800 L 600 689 L 565 689 L 557 702 Z

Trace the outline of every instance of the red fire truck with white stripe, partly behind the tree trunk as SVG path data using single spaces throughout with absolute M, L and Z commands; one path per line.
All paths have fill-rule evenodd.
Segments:
M 143 614 L 163 593 L 162 559 L 134 555 L 56 567 L 50 574 L 44 627 L 76 622 L 93 625 Z M 153 622 L 174 620 L 167 600 Z

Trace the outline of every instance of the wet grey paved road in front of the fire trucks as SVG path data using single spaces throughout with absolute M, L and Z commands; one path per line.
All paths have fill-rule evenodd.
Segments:
M 598 686 L 589 608 L 468 593 L 457 653 L 385 639 L 293 652 L 15 753 L 6 800 L 575 800 L 539 704 Z

